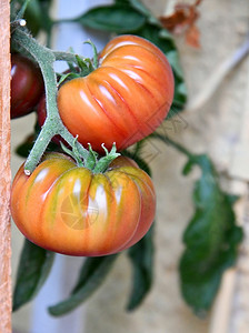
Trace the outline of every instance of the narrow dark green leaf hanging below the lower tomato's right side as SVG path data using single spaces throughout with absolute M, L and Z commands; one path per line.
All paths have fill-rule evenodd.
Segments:
M 127 310 L 137 309 L 151 289 L 153 281 L 153 226 L 129 252 L 133 266 L 133 285 Z

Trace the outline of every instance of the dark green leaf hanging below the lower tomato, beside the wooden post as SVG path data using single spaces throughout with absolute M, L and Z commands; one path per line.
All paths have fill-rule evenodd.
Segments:
M 54 253 L 24 241 L 13 292 L 13 311 L 31 301 L 40 291 L 49 275 L 53 258 Z

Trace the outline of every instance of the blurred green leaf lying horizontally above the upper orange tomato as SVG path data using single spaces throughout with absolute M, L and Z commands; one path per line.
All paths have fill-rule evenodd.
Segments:
M 92 29 L 127 33 L 140 29 L 146 18 L 133 9 L 114 4 L 90 9 L 76 21 Z

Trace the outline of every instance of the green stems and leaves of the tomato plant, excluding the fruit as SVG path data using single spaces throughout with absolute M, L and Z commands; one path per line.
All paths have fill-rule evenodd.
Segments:
M 83 148 L 68 131 L 58 112 L 58 82 L 52 69 L 54 61 L 62 60 L 72 64 L 72 67 L 81 64 L 84 74 L 88 74 L 98 65 L 97 51 L 93 48 L 94 57 L 93 62 L 91 62 L 89 59 L 83 59 L 78 54 L 57 52 L 40 46 L 37 40 L 29 34 L 28 30 L 23 27 L 23 20 L 21 20 L 28 3 L 29 0 L 26 0 L 22 9 L 19 11 L 19 14 L 14 17 L 11 24 L 12 44 L 20 52 L 23 51 L 33 58 L 42 71 L 46 85 L 48 117 L 26 162 L 26 174 L 32 173 L 49 142 L 56 134 L 60 134 L 72 148 L 72 152 L 69 151 L 67 147 L 64 151 L 69 154 L 73 154 L 73 159 L 78 161 L 78 165 L 81 167 L 81 160 L 83 160 L 83 167 L 91 169 L 93 173 L 102 172 L 118 155 L 116 148 L 113 147 L 112 150 L 108 152 L 103 147 L 106 157 L 97 161 L 97 154 L 91 148 L 89 147 L 88 150 Z M 58 21 L 52 22 L 48 17 L 47 19 L 47 22 L 49 22 L 48 29 L 46 28 L 47 31 L 50 31 L 54 23 L 60 23 Z M 77 21 L 83 27 L 101 29 L 113 33 L 133 33 L 157 44 L 168 57 L 175 74 L 175 99 L 168 118 L 176 115 L 183 109 L 187 92 L 173 39 L 140 1 L 116 0 L 112 6 L 91 9 L 72 21 Z M 67 79 L 67 74 L 62 79 Z M 197 165 L 201 170 L 201 176 L 200 180 L 196 182 L 193 193 L 196 211 L 185 232 L 183 242 L 186 249 L 179 263 L 179 272 L 181 291 L 187 303 L 196 313 L 208 311 L 215 300 L 222 273 L 236 261 L 238 244 L 242 238 L 242 231 L 236 225 L 236 216 L 232 210 L 235 198 L 231 198 L 231 195 L 228 195 L 220 189 L 217 172 L 207 155 L 196 155 L 185 147 L 157 132 L 151 134 L 150 138 L 170 144 L 186 155 L 188 162 L 183 169 L 183 174 L 190 172 L 193 165 Z M 149 165 L 141 158 L 141 149 L 146 142 L 147 138 L 138 142 L 132 151 L 126 150 L 122 153 L 133 158 L 139 167 L 150 174 Z M 216 230 L 216 235 L 213 235 L 210 230 Z M 129 259 L 135 273 L 133 289 L 128 310 L 135 310 L 139 306 L 152 285 L 152 236 L 153 233 L 152 230 L 150 230 L 137 245 L 129 250 Z M 200 239 L 201 242 L 198 242 Z M 29 272 L 23 269 L 23 262 L 28 261 L 33 264 L 33 246 L 36 253 L 40 256 L 40 261 L 34 265 L 36 279 L 30 282 L 28 279 Z M 29 241 L 26 241 L 21 258 L 14 292 L 16 310 L 32 299 L 34 292 L 39 290 L 47 278 L 48 268 L 50 268 L 52 262 L 52 255 L 50 255 L 49 251 L 37 248 L 30 244 Z M 79 280 L 69 297 L 59 304 L 50 306 L 50 313 L 53 315 L 64 314 L 89 297 L 93 291 L 100 286 L 102 278 L 108 274 L 116 258 L 117 255 L 88 259 L 82 266 Z M 99 276 L 101 276 L 101 279 L 99 279 Z M 23 293 L 20 292 L 21 289 L 23 289 Z

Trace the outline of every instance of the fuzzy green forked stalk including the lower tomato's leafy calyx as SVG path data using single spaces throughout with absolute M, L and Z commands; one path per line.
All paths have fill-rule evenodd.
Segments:
M 86 148 L 83 148 L 63 125 L 57 107 L 58 84 L 56 72 L 53 71 L 53 62 L 57 60 L 64 60 L 78 63 L 77 57 L 68 52 L 53 52 L 52 50 L 40 46 L 37 40 L 30 37 L 26 30 L 21 29 L 21 27 L 13 31 L 12 41 L 20 49 L 24 49 L 32 58 L 36 59 L 43 75 L 46 90 L 47 119 L 26 161 L 26 174 L 30 175 L 32 173 L 43 155 L 49 142 L 57 134 L 64 139 L 70 147 L 77 149 L 86 168 L 93 170 L 93 172 L 104 171 L 107 165 L 119 155 L 116 153 L 116 147 L 113 147 L 110 153 L 108 153 L 103 148 L 107 155 L 97 161 L 96 153 L 89 152 Z M 96 54 L 97 51 L 94 52 L 94 58 L 97 57 Z M 93 65 L 96 65 L 96 60 Z

